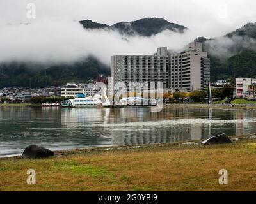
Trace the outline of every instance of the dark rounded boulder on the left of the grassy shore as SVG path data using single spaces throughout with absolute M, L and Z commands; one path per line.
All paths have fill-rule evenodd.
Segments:
M 54 153 L 49 149 L 36 145 L 30 145 L 26 147 L 21 157 L 24 159 L 44 159 L 53 155 Z

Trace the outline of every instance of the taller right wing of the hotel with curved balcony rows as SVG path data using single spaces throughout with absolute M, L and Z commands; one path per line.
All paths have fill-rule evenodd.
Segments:
M 189 43 L 184 52 L 170 54 L 170 89 L 206 89 L 210 79 L 210 59 L 202 43 Z

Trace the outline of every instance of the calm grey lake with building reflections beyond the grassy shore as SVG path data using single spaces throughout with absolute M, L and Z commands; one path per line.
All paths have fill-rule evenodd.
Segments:
M 0 107 L 0 157 L 51 150 L 200 140 L 256 133 L 256 111 L 199 108 Z

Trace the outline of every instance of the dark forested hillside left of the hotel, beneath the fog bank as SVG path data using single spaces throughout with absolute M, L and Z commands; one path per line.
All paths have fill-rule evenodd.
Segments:
M 95 80 L 99 74 L 109 75 L 110 68 L 94 57 L 74 64 L 47 66 L 12 62 L 0 64 L 0 87 L 47 87 L 67 82 Z

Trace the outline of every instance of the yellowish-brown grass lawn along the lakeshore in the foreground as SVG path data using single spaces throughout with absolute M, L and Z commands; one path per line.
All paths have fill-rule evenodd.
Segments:
M 0 159 L 1 191 L 255 191 L 256 140 L 73 150 L 51 159 Z M 28 185 L 28 169 L 36 185 Z M 220 185 L 219 170 L 228 171 Z

